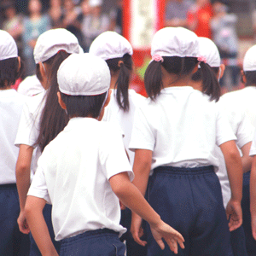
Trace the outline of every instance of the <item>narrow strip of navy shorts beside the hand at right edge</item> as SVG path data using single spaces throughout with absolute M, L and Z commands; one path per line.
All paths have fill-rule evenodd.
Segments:
M 249 256 L 255 256 L 256 241 L 253 239 L 250 212 L 250 174 L 251 172 L 246 172 L 243 174 L 241 200 L 242 226 L 246 237 L 247 254 Z

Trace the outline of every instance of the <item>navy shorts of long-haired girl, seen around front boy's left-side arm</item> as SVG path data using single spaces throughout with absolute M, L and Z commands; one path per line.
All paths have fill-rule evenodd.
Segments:
M 53 242 L 56 251 L 59 253 L 60 252 L 60 247 L 61 247 L 61 242 L 60 241 L 55 241 L 55 233 L 54 233 L 53 226 L 52 226 L 52 223 L 51 223 L 51 208 L 52 208 L 51 205 L 48 205 L 48 204 L 45 205 L 44 211 L 43 211 L 44 220 L 47 224 L 51 241 Z M 34 241 L 31 233 L 29 233 L 29 237 L 30 237 L 30 242 L 31 242 L 30 254 L 29 255 L 30 256 L 41 256 L 42 254 L 40 253 L 40 251 L 38 249 L 38 246 L 36 244 L 36 241 Z

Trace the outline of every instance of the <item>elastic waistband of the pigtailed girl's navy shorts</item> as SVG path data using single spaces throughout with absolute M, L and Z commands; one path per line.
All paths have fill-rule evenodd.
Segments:
M 195 168 L 173 167 L 173 166 L 159 166 L 154 169 L 154 172 L 163 172 L 178 175 L 198 175 L 214 172 L 213 166 L 200 166 Z

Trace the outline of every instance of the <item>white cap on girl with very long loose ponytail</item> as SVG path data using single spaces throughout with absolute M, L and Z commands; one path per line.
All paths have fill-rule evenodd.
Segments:
M 69 54 L 79 53 L 79 41 L 73 33 L 65 28 L 50 29 L 44 32 L 39 36 L 34 49 L 36 64 L 49 60 L 61 49 Z

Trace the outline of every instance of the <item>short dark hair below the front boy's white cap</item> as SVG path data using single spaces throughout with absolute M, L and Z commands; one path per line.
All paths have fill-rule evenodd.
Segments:
M 72 117 L 98 118 L 107 92 L 96 96 L 70 96 L 61 93 L 61 99 L 67 107 L 67 115 Z

